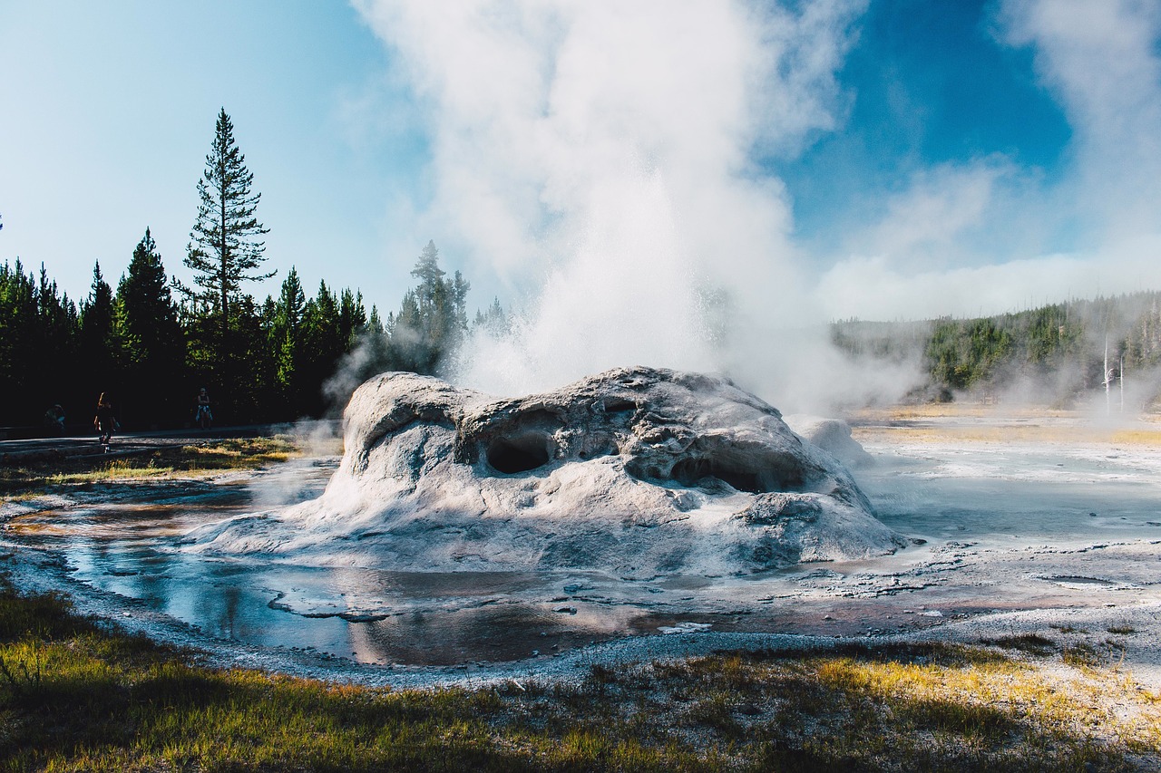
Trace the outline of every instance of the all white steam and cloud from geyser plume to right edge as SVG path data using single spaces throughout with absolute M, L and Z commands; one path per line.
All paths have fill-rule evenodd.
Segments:
M 430 125 L 414 244 L 437 236 L 518 299 L 517 335 L 481 337 L 467 385 L 526 392 L 641 363 L 724 370 L 781 407 L 825 410 L 917 378 L 856 371 L 825 341 L 830 319 L 1161 286 L 1156 3 L 993 6 L 996 45 L 1032 49 L 1074 129 L 1065 173 L 1002 154 L 920 169 L 829 257 L 802 254 L 781 181 L 753 159 L 842 129 L 852 95 L 836 73 L 866 0 L 355 5 Z M 1046 248 L 1070 229 L 1076 252 Z

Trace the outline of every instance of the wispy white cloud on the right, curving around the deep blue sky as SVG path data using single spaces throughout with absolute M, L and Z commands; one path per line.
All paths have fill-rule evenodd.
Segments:
M 816 299 L 834 318 L 1025 309 L 1161 287 L 1161 6 L 1009 0 L 1002 42 L 1031 46 L 1073 128 L 1062 173 L 995 156 L 920 169 L 848 237 Z M 1070 254 L 1041 254 L 1069 233 Z

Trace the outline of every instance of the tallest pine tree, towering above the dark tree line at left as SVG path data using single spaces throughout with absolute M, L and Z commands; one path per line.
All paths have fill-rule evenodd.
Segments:
M 185 263 L 195 274 L 201 291 L 181 288 L 190 298 L 205 303 L 217 319 L 217 354 L 229 357 L 231 305 L 240 296 L 244 281 L 274 275 L 254 273 L 266 260 L 260 237 L 269 231 L 254 216 L 262 195 L 253 193 L 254 175 L 233 139 L 233 123 L 225 108 L 218 114 L 214 143 L 205 157 L 205 172 L 197 181 L 197 219 L 189 232 Z

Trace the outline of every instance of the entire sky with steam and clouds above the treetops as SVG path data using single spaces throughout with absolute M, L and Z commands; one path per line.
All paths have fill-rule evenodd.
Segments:
M 779 324 L 1158 289 L 1159 15 L 0 0 L 0 260 L 78 298 L 150 226 L 186 277 L 224 107 L 280 272 L 259 297 L 296 265 L 391 309 L 427 239 L 474 305 L 499 295 L 545 331 L 564 284 L 626 323 L 610 309 L 636 296 L 599 282 L 625 272 L 721 286 L 752 319 L 784 292 Z

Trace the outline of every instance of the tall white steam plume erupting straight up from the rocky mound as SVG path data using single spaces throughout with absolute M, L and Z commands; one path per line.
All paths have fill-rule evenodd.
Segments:
M 784 188 L 750 159 L 836 125 L 864 5 L 363 3 L 430 110 L 417 230 L 527 298 L 517 334 L 481 337 L 460 380 L 515 393 L 640 363 L 724 369 L 780 400 L 817 388 L 786 341 L 824 347 L 821 326 L 779 331 L 825 318 Z

